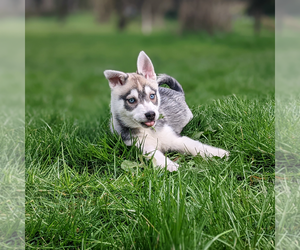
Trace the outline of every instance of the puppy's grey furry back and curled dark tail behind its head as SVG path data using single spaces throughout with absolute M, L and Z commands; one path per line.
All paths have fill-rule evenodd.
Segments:
M 177 134 L 193 118 L 193 114 L 185 102 L 183 88 L 180 83 L 171 76 L 159 75 L 157 78 L 159 85 L 166 84 L 170 88 L 159 87 L 161 103 L 159 113 L 163 116 L 157 121 L 156 127 L 159 128 L 165 123 L 168 124 Z

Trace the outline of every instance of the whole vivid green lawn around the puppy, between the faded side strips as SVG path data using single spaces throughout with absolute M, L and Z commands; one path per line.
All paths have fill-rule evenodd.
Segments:
M 274 34 L 245 22 L 143 36 L 83 19 L 26 26 L 27 248 L 273 249 Z M 103 71 L 134 72 L 140 50 L 182 84 L 194 114 L 182 134 L 228 161 L 170 153 L 169 173 L 109 132 Z

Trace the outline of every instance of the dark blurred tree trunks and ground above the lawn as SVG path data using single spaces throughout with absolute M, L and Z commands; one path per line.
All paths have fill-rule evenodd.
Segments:
M 18 0 L 12 1 L 18 2 Z M 20 2 L 20 1 L 19 1 Z M 144 34 L 164 27 L 166 21 L 177 21 L 178 31 L 230 31 L 232 22 L 248 16 L 253 30 L 262 25 L 274 29 L 275 0 L 27 0 L 26 17 L 67 17 L 90 12 L 99 25 L 114 19 L 119 31 L 132 22 L 139 23 Z

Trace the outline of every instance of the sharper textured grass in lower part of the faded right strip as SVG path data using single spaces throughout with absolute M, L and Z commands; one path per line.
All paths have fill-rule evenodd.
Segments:
M 297 93 L 297 90 L 294 91 Z M 299 129 L 297 95 L 276 96 L 276 247 L 299 249 Z

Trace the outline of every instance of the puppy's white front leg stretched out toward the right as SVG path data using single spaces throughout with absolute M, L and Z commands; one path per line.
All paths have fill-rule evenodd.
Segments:
M 201 142 L 192 140 L 186 136 L 177 138 L 173 143 L 173 148 L 177 151 L 190 153 L 194 156 L 197 154 L 200 154 L 202 157 L 218 156 L 223 158 L 224 156 L 229 156 L 229 152 L 224 149 L 202 144 Z

